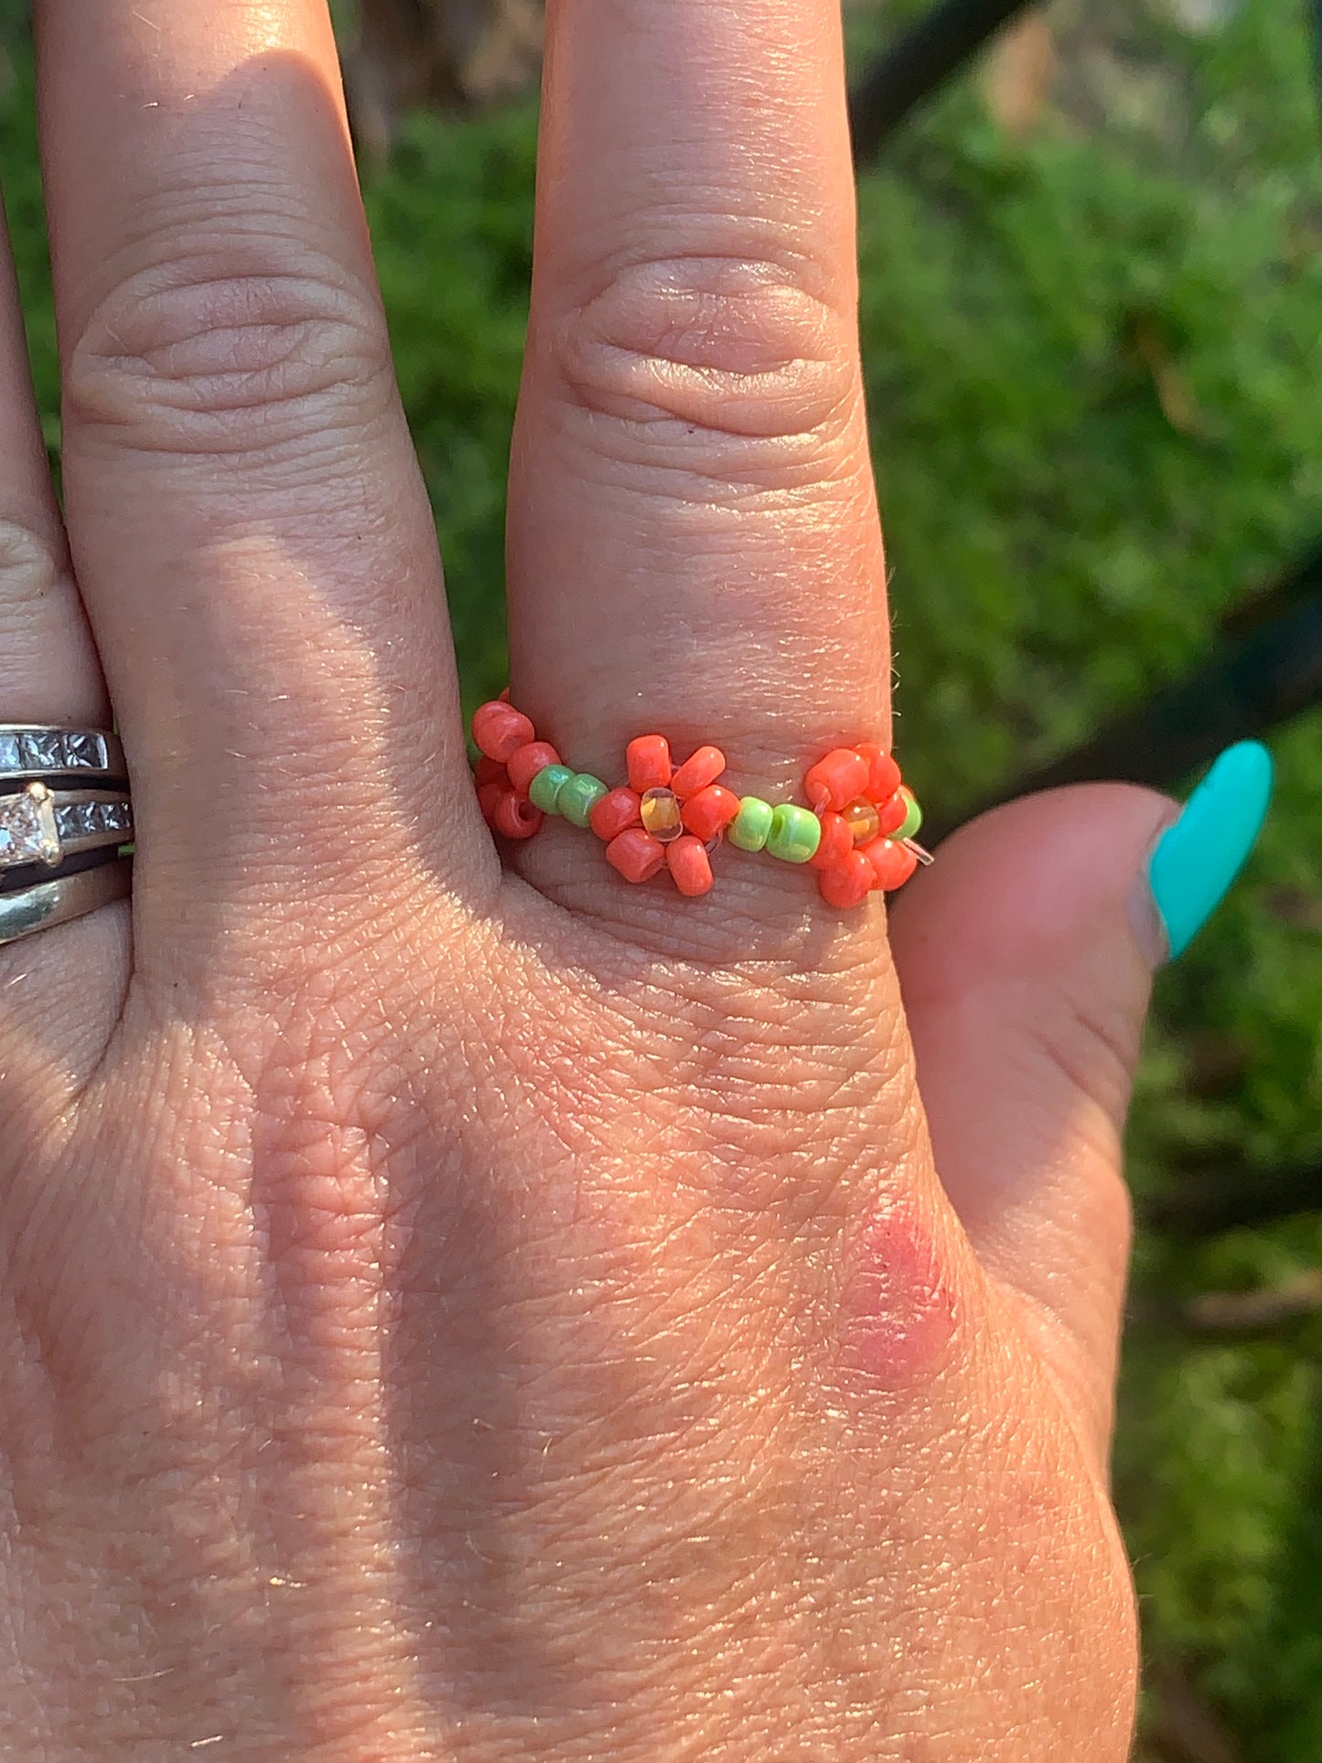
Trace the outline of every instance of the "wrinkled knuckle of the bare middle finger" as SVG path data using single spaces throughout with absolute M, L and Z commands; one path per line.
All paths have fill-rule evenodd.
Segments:
M 391 397 L 375 294 L 289 242 L 178 256 L 118 282 L 65 368 L 72 421 L 145 451 L 298 446 Z

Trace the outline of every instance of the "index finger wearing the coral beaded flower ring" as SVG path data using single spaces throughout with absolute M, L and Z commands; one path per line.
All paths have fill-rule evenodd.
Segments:
M 509 643 L 568 763 L 659 730 L 784 793 L 887 740 L 855 305 L 837 0 L 552 0 Z

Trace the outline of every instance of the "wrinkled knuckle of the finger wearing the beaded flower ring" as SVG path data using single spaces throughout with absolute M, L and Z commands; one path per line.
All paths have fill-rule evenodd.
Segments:
M 851 316 L 793 261 L 665 257 L 624 263 L 552 340 L 566 400 L 615 427 L 626 451 L 714 450 L 820 462 L 858 409 Z

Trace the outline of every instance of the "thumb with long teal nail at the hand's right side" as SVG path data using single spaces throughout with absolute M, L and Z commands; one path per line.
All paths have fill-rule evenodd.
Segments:
M 1243 742 L 1183 811 L 1132 785 L 1026 797 L 961 829 L 894 906 L 936 1167 L 1102 1456 L 1153 968 L 1218 904 L 1269 795 L 1271 760 Z

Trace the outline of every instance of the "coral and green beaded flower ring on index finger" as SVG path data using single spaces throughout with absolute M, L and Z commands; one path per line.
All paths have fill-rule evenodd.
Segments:
M 873 889 L 890 892 L 932 859 L 915 843 L 922 809 L 899 765 L 881 748 L 834 748 L 804 777 L 809 807 L 735 795 L 719 777 L 724 753 L 698 748 L 682 765 L 663 735 L 638 735 L 626 749 L 628 783 L 610 788 L 566 765 L 508 698 L 483 703 L 472 718 L 481 758 L 478 802 L 486 825 L 506 839 L 531 839 L 546 815 L 590 827 L 606 862 L 626 882 L 649 882 L 661 869 L 680 894 L 712 887 L 710 853 L 728 839 L 740 852 L 767 852 L 818 871 L 821 897 L 857 906 Z

